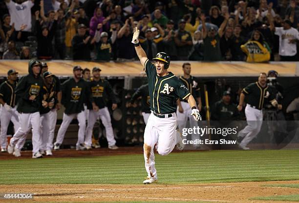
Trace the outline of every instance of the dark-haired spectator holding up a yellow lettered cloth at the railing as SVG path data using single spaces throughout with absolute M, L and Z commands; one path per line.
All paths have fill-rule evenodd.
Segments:
M 251 39 L 241 45 L 242 51 L 247 55 L 247 62 L 266 62 L 270 60 L 270 48 L 263 35 L 255 30 Z

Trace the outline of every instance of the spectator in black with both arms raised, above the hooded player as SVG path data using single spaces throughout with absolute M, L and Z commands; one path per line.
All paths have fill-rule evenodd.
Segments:
M 49 30 L 47 26 L 41 26 L 39 19 L 39 11 L 35 12 L 36 30 L 37 30 L 37 56 L 39 59 L 52 59 L 53 49 L 52 40 L 56 32 L 58 13 L 55 14 L 52 28 Z

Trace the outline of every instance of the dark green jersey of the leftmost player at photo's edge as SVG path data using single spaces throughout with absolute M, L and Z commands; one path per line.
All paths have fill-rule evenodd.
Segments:
M 15 91 L 16 83 L 11 84 L 9 81 L 5 81 L 0 85 L 0 98 L 2 98 L 7 105 L 14 107 L 17 103 Z

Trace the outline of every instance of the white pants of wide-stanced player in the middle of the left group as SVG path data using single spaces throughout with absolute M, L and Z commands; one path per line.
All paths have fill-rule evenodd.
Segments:
M 79 122 L 79 131 L 78 131 L 78 141 L 76 143 L 76 146 L 79 146 L 80 144 L 84 143 L 84 137 L 85 137 L 85 128 L 86 128 L 86 118 L 85 118 L 85 112 L 81 111 L 78 114 L 65 114 L 63 116 L 63 122 L 61 123 L 57 137 L 56 142 L 54 144 L 62 144 L 64 141 L 64 135 L 67 130 L 67 127 L 72 122 L 72 120 L 77 117 L 77 120 Z

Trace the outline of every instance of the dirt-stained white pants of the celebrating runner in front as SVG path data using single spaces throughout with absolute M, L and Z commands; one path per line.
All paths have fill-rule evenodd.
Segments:
M 144 132 L 144 160 L 148 176 L 157 179 L 157 171 L 155 168 L 155 155 L 153 148 L 158 141 L 158 153 L 162 156 L 168 155 L 173 150 L 179 132 L 176 129 L 176 115 L 172 113 L 170 118 L 158 118 L 153 113 L 150 114 L 148 124 Z

